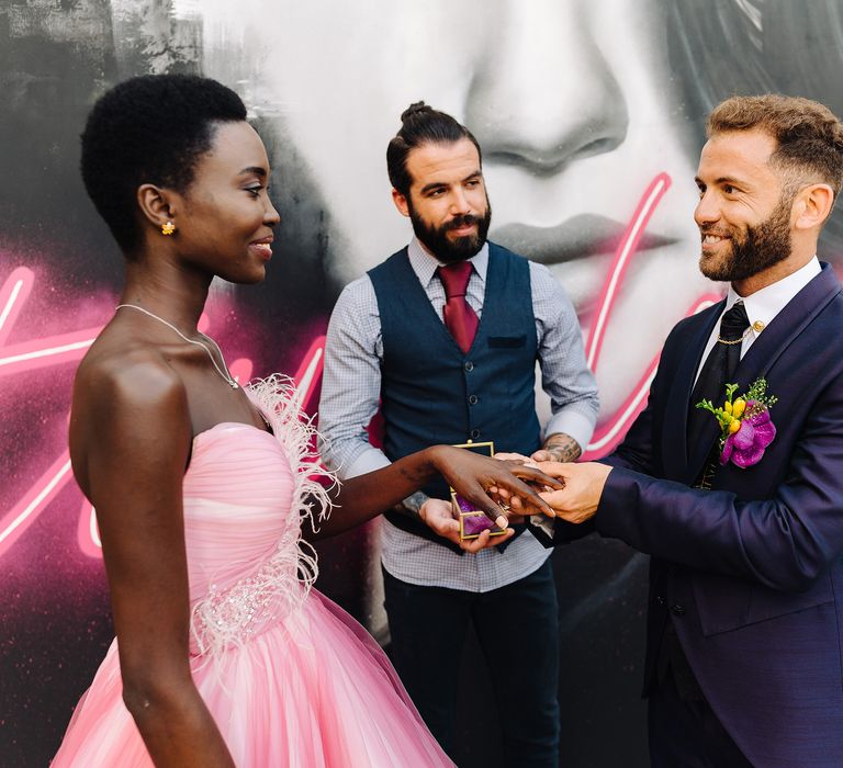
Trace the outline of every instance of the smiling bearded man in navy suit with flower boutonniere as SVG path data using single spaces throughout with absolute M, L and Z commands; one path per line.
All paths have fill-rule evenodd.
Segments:
M 606 464 L 552 465 L 549 500 L 652 555 L 654 766 L 843 766 L 843 293 L 816 257 L 843 124 L 735 97 L 707 135 L 699 266 L 728 295 L 673 329 Z

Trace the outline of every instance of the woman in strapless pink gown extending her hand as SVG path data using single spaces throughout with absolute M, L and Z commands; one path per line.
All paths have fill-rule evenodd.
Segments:
M 284 380 L 241 386 L 196 329 L 214 275 L 263 278 L 278 223 L 266 150 L 229 89 L 119 84 L 89 116 L 82 174 L 126 261 L 70 420 L 116 639 L 53 767 L 450 765 L 381 650 L 313 588 L 302 522 L 341 532 L 438 472 L 505 526 L 484 488 L 549 512 L 519 477 L 559 485 L 445 445 L 341 488 L 315 482 Z

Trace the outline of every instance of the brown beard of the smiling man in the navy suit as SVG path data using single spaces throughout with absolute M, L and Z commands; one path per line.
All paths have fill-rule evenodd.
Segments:
M 728 237 L 730 250 L 719 261 L 705 253 L 699 259 L 699 270 L 711 280 L 733 282 L 746 280 L 763 272 L 790 256 L 790 210 L 793 195 L 783 194 L 766 221 L 745 230 L 700 227 L 706 235 Z

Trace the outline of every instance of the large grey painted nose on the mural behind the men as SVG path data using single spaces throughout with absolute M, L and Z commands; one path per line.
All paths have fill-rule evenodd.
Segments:
M 465 102 L 465 123 L 486 162 L 552 173 L 611 151 L 629 115 L 608 60 L 575 3 L 518 3 L 518 24 L 501 32 Z

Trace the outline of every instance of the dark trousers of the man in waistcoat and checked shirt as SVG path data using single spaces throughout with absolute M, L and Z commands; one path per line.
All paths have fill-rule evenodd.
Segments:
M 559 620 L 550 561 L 490 592 L 419 587 L 384 571 L 391 657 L 442 748 L 453 753 L 457 681 L 474 625 L 492 670 L 504 758 L 518 768 L 559 766 Z M 479 712 L 486 720 L 487 713 Z

